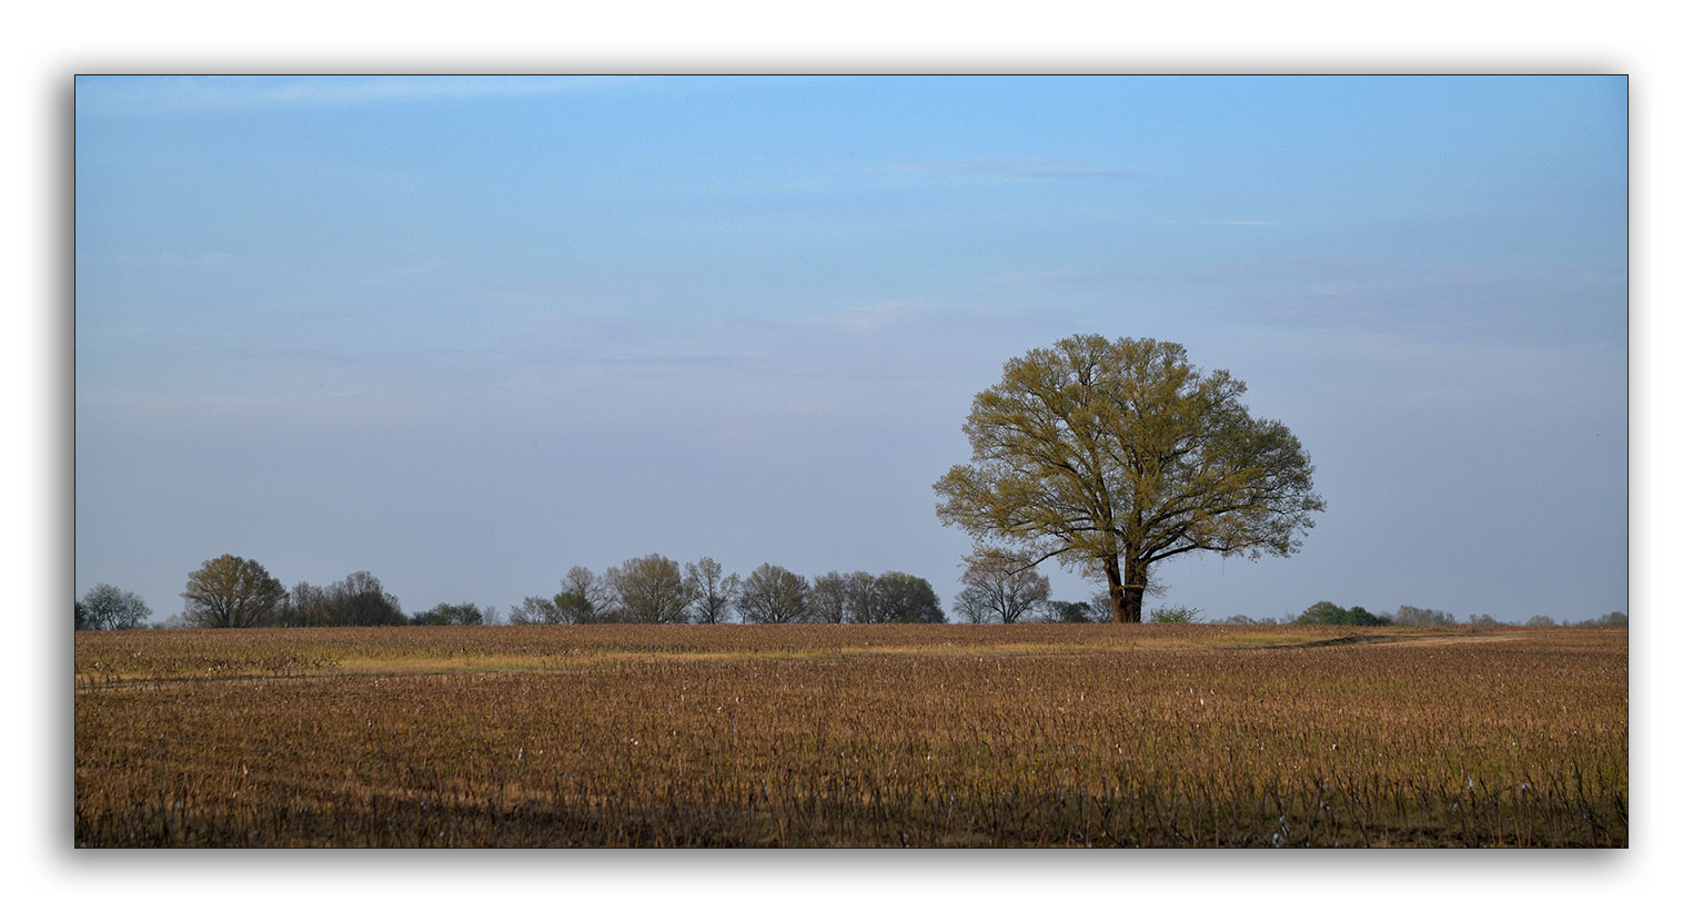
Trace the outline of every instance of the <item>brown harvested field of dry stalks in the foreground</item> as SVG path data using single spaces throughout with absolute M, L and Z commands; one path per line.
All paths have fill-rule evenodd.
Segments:
M 1625 846 L 1626 632 L 80 632 L 78 846 Z

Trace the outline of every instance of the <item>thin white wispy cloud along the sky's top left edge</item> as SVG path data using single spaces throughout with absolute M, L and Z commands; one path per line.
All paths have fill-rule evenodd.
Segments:
M 443 102 L 606 89 L 627 77 L 85 77 L 78 107 L 150 111 Z

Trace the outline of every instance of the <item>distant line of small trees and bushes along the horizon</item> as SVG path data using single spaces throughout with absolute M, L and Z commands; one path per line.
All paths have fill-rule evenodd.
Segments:
M 1017 622 L 1115 622 L 1115 608 L 1107 596 L 1092 601 L 1051 598 L 1051 581 L 1034 569 L 1013 569 L 1006 562 L 972 555 L 960 576 L 964 588 L 952 603 L 959 622 L 972 625 Z M 1150 593 L 1163 593 L 1153 582 Z M 221 555 L 203 562 L 184 586 L 184 611 L 167 620 L 169 628 L 308 628 L 356 625 L 499 625 L 496 606 L 475 603 L 438 603 L 407 615 L 395 596 L 371 572 L 356 570 L 347 577 L 313 586 L 296 582 L 288 591 L 266 567 L 250 559 Z M 112 584 L 95 584 L 75 603 L 77 630 L 143 628 L 152 615 L 135 593 Z M 1156 623 L 1204 622 L 1201 610 L 1158 606 L 1150 613 Z M 945 611 L 933 586 L 923 577 L 887 570 L 843 574 L 829 570 L 806 577 L 775 564 L 763 564 L 741 577 L 724 572 L 710 557 L 681 567 L 659 555 L 628 559 L 603 574 L 589 567 L 571 567 L 553 596 L 528 596 L 511 606 L 509 625 L 596 625 L 596 623 L 943 623 Z M 1250 618 L 1233 615 L 1223 625 L 1402 625 L 1480 628 L 1555 627 L 1557 622 L 1534 615 L 1524 623 L 1500 622 L 1490 615 L 1468 615 L 1419 606 L 1400 606 L 1393 613 L 1371 613 L 1364 606 L 1339 606 L 1328 599 L 1313 603 L 1299 615 L 1284 618 Z M 1625 628 L 1626 613 L 1611 611 L 1599 618 L 1572 622 L 1572 627 Z

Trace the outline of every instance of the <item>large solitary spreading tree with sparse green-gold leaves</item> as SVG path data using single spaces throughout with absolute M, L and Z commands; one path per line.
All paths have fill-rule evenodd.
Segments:
M 1005 364 L 976 395 L 971 462 L 935 507 L 978 553 L 1104 574 L 1115 622 L 1141 622 L 1153 567 L 1189 552 L 1287 557 L 1325 502 L 1299 439 L 1175 342 L 1076 335 Z

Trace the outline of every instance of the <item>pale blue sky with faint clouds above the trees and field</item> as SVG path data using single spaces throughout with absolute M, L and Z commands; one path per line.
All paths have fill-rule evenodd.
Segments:
M 971 397 L 1098 332 L 1243 378 L 1330 504 L 1165 601 L 1626 610 L 1623 78 L 80 78 L 75 126 L 78 594 L 950 601 Z

